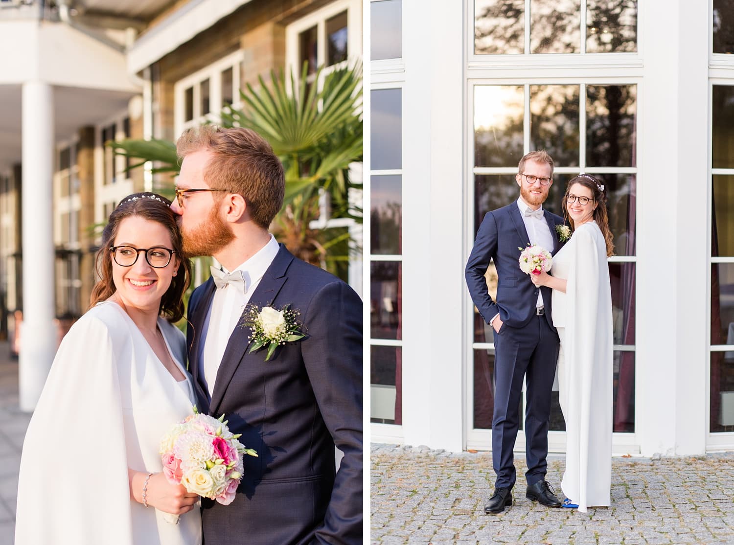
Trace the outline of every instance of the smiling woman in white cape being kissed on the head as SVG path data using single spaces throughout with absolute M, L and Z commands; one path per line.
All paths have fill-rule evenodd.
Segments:
M 169 205 L 137 193 L 109 216 L 90 310 L 64 337 L 26 431 L 17 545 L 201 543 L 199 498 L 167 481 L 159 455 L 194 399 L 172 325 L 191 268 Z

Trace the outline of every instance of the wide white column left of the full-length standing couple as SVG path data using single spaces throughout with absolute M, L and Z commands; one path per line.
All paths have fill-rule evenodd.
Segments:
M 463 15 L 404 2 L 403 431 L 407 445 L 463 447 Z M 440 39 L 436 37 L 440 36 Z

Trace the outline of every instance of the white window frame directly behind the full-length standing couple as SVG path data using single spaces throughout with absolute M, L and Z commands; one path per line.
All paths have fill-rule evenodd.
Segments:
M 526 0 L 526 14 L 530 10 L 530 0 Z M 466 23 L 466 49 L 465 58 L 467 59 L 467 67 L 465 70 L 465 166 L 469 179 L 465 181 L 465 260 L 471 251 L 476 233 L 473 229 L 474 224 L 474 176 L 477 174 L 516 174 L 516 168 L 485 168 L 474 167 L 473 142 L 473 100 L 474 87 L 476 85 L 523 85 L 524 92 L 524 116 L 523 116 L 523 144 L 524 150 L 529 150 L 529 90 L 531 85 L 579 85 L 581 108 L 579 109 L 579 136 L 581 139 L 579 150 L 579 166 L 578 167 L 556 167 L 555 172 L 559 174 L 575 174 L 578 172 L 603 172 L 603 173 L 619 173 L 619 174 L 635 174 L 638 178 L 636 182 L 639 184 L 639 162 L 636 167 L 602 167 L 602 168 L 586 168 L 586 150 L 585 150 L 585 120 L 586 110 L 584 106 L 585 92 L 587 84 L 599 85 L 636 85 L 636 117 L 638 125 L 637 133 L 641 131 L 639 120 L 641 120 L 640 109 L 642 95 L 641 89 L 643 85 L 643 56 L 642 56 L 642 37 L 641 32 L 644 28 L 642 24 L 644 10 L 637 13 L 637 51 L 631 53 L 586 53 L 586 0 L 581 0 L 581 49 L 579 53 L 573 54 L 531 54 L 530 51 L 530 34 L 529 34 L 529 18 L 526 16 L 525 29 L 525 53 L 524 54 L 494 54 L 494 55 L 478 55 L 474 54 L 474 9 L 473 0 L 468 0 L 465 4 L 465 23 Z M 637 156 L 640 154 L 640 142 L 636 140 Z M 637 209 L 640 208 L 638 199 Z M 639 216 L 638 216 L 639 217 Z M 639 228 L 639 227 L 636 227 Z M 636 250 L 636 255 L 639 249 Z M 615 256 L 610 257 L 609 262 L 617 263 L 636 263 L 637 256 Z M 637 271 L 636 271 L 637 274 Z M 639 312 L 639 297 L 635 290 L 635 312 Z M 473 427 L 473 387 L 474 387 L 474 354 L 475 349 L 493 348 L 492 343 L 474 343 L 473 342 L 473 302 L 468 293 L 465 293 L 465 315 L 463 331 L 465 332 L 465 395 L 464 395 L 464 414 L 465 414 L 465 447 L 476 450 L 491 450 L 492 448 L 492 430 L 479 429 Z M 635 351 L 634 345 L 614 345 L 615 351 Z M 640 362 L 635 359 L 635 382 L 638 382 Z M 523 382 L 523 407 L 525 406 L 526 385 Z M 635 406 L 640 406 L 639 388 L 635 388 Z M 551 453 L 564 453 L 566 434 L 564 431 L 548 432 L 548 451 Z M 639 454 L 639 414 L 635 416 L 635 432 L 633 433 L 614 433 L 612 436 L 612 449 L 615 454 Z M 515 441 L 515 450 L 524 452 L 525 450 L 525 434 L 520 429 L 517 432 Z

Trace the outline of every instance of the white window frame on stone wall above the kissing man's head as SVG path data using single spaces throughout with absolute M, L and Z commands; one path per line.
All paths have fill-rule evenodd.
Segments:
M 221 121 L 219 113 L 224 108 L 222 104 L 222 72 L 232 68 L 232 107 L 239 109 L 242 106 L 239 90 L 241 89 L 241 66 L 244 61 L 244 51 L 241 49 L 229 54 L 206 68 L 197 70 L 173 84 L 173 127 L 176 138 L 187 128 L 197 127 L 204 122 Z M 201 87 L 203 81 L 209 80 L 209 113 L 201 113 Z M 186 120 L 186 89 L 193 87 L 194 116 Z

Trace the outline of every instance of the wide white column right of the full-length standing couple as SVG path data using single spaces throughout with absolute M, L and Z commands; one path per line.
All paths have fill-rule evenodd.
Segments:
M 663 5 L 664 4 L 664 5 Z M 708 10 L 641 2 L 636 434 L 700 454 L 708 411 Z M 665 256 L 662 260 L 659 256 Z

